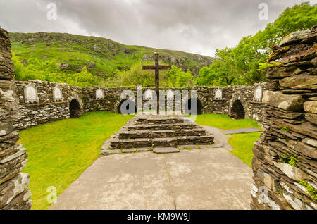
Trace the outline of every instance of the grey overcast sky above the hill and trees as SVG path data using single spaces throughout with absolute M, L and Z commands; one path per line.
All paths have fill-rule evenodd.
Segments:
M 301 0 L 0 0 L 0 26 L 10 32 L 68 32 L 129 45 L 213 56 L 273 22 Z M 311 0 L 316 4 L 317 0 Z M 57 6 L 49 20 L 47 6 Z M 268 19 L 260 20 L 260 3 Z M 49 13 L 49 15 L 51 15 Z M 261 14 L 263 15 L 263 14 Z

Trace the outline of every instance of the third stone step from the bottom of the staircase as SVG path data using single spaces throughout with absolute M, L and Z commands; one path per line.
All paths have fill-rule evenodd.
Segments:
M 174 123 L 174 124 L 160 124 L 160 125 L 129 125 L 128 130 L 177 130 L 177 129 L 194 129 L 199 127 L 195 123 Z

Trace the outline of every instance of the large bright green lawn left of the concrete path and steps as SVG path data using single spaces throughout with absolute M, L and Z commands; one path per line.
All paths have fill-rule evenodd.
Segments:
M 61 194 L 99 156 L 104 141 L 130 118 L 93 112 L 20 131 L 19 142 L 29 154 L 23 173 L 31 176 L 32 209 L 47 209 L 46 189 L 54 186 Z

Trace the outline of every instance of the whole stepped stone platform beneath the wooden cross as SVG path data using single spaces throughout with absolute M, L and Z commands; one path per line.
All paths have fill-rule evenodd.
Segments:
M 213 136 L 185 116 L 138 114 L 101 148 L 101 154 L 118 149 L 176 148 L 181 145 L 213 144 Z M 133 151 L 133 150 L 128 150 Z

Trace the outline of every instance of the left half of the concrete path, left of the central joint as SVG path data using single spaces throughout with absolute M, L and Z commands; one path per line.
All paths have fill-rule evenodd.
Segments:
M 98 158 L 51 209 L 175 209 L 163 154 Z

